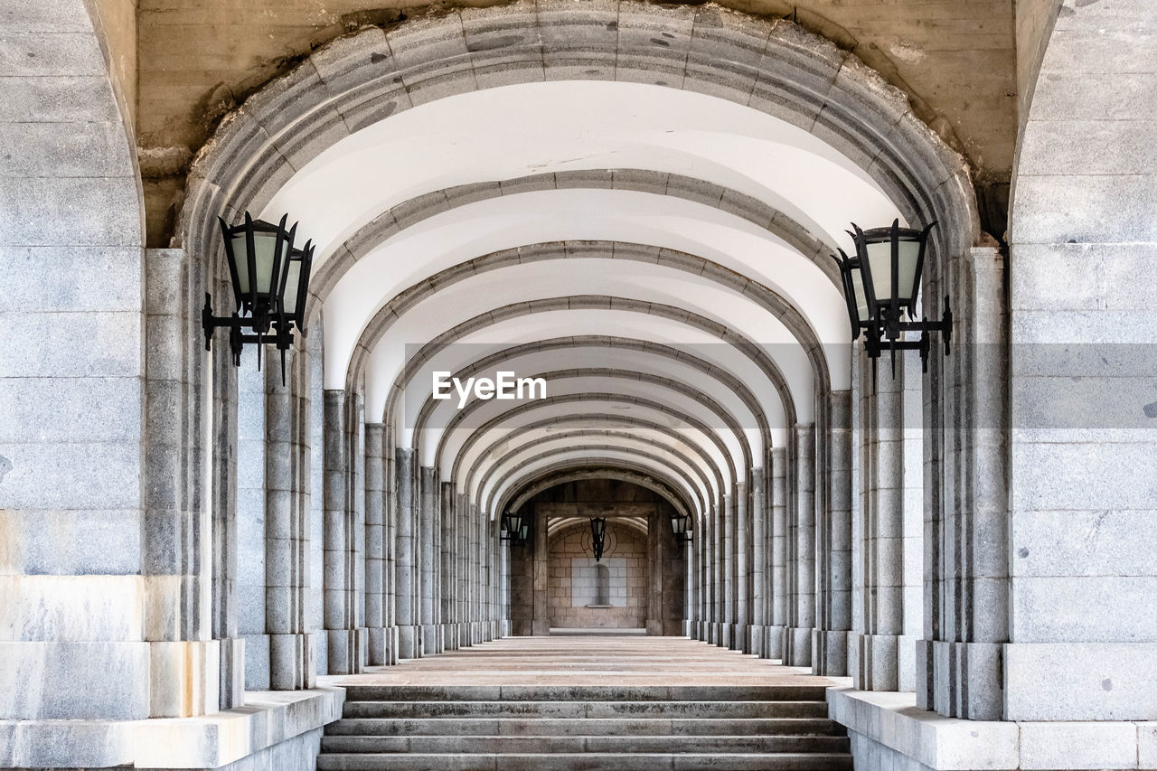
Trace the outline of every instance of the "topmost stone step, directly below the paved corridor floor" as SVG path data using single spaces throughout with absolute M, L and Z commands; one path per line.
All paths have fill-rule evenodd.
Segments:
M 825 685 L 347 685 L 349 702 L 823 702 Z

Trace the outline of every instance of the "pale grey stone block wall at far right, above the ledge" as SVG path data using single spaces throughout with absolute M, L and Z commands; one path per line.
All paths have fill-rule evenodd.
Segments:
M 1155 36 L 1148 0 L 1067 0 L 1024 127 L 1007 719 L 1157 719 Z

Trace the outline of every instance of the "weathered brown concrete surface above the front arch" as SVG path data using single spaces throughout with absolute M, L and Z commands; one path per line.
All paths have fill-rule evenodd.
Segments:
M 223 115 L 330 39 L 364 24 L 388 25 L 427 13 L 407 5 L 398 0 L 141 0 L 138 133 L 149 159 L 150 242 L 168 242 L 185 164 Z M 1016 135 L 1011 0 L 724 0 L 721 5 L 769 19 L 793 19 L 853 51 L 901 88 L 915 115 L 965 154 L 979 182 L 982 218 L 988 219 L 983 210 L 992 199 L 1001 213 L 1001 190 L 1009 177 Z M 450 7 L 454 3 L 432 8 L 437 13 Z M 668 9 L 656 5 L 656 17 Z M 1003 232 L 1001 222 L 985 221 L 985 227 L 996 235 Z

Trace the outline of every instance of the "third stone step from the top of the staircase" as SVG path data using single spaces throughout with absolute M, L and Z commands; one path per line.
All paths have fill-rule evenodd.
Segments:
M 842 735 L 827 718 L 346 718 L 333 736 L 712 736 Z

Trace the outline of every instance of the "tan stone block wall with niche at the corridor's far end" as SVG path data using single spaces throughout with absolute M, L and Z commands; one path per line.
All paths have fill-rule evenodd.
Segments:
M 575 605 L 573 586 L 575 564 L 591 559 L 590 528 L 578 524 L 551 538 L 550 593 L 551 626 L 643 629 L 647 626 L 647 600 L 650 581 L 647 570 L 646 536 L 636 529 L 607 520 L 607 550 L 603 561 L 611 573 L 611 608 Z M 611 561 L 613 560 L 613 561 Z M 621 565 L 618 564 L 621 560 Z M 591 578 L 591 581 L 596 579 Z M 620 594 L 621 593 L 621 605 Z M 591 592 L 590 594 L 594 594 Z

